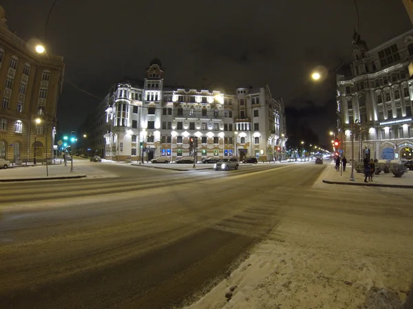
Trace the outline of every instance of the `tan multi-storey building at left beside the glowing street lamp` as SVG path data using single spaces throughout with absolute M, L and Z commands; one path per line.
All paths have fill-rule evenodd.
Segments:
M 0 158 L 52 157 L 64 67 L 63 57 L 37 54 L 8 30 L 0 6 Z

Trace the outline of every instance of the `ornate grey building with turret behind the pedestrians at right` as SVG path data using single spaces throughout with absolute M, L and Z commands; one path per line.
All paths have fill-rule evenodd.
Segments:
M 413 159 L 413 30 L 374 49 L 354 31 L 351 76 L 337 76 L 338 128 L 346 156 L 355 159 Z

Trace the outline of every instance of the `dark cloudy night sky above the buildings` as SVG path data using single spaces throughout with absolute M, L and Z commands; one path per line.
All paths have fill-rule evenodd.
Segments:
M 10 30 L 45 37 L 54 0 L 3 0 Z M 204 3 L 201 5 L 200 3 Z M 287 123 L 308 123 L 327 144 L 336 125 L 335 71 L 351 60 L 353 26 L 369 47 L 410 30 L 401 0 L 56 1 L 47 27 L 50 54 L 64 56 L 65 76 L 103 98 L 125 76 L 144 78 L 152 58 L 165 83 L 207 78 L 215 89 L 269 84 L 283 97 Z M 330 73 L 308 79 L 313 68 Z M 99 100 L 65 82 L 59 128 L 76 130 Z M 288 133 L 288 132 L 287 132 Z

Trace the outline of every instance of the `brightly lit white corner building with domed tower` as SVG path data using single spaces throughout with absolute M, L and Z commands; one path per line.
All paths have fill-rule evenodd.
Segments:
M 105 158 L 173 161 L 192 156 L 191 137 L 198 138 L 198 160 L 210 156 L 285 158 L 284 102 L 268 86 L 222 93 L 164 84 L 162 63 L 153 59 L 141 84 L 116 84 L 107 102 Z M 140 148 L 140 142 L 145 151 Z

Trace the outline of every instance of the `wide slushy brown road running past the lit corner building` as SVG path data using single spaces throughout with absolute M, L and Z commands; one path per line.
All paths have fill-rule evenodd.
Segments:
M 314 163 L 99 168 L 120 177 L 0 185 L 1 308 L 179 308 L 228 276 L 288 207 L 346 203 L 335 186 L 313 187 L 326 168 Z

